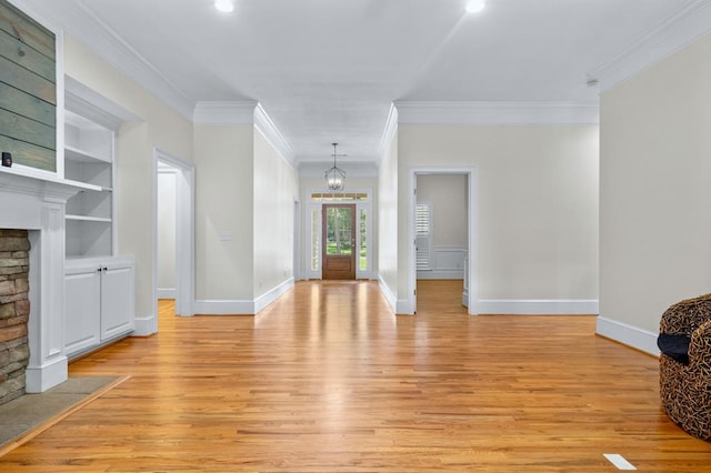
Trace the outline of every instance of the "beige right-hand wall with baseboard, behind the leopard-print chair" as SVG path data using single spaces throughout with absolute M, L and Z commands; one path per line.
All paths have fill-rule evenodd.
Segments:
M 711 288 L 711 36 L 601 97 L 600 333 L 655 353 Z

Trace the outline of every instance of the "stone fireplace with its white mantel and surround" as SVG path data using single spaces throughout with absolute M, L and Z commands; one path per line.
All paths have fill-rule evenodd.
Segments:
M 0 366 L 6 365 L 0 402 L 47 391 L 68 378 L 64 209 L 82 189 L 18 168 L 0 168 L 0 234 L 6 236 L 0 241 Z

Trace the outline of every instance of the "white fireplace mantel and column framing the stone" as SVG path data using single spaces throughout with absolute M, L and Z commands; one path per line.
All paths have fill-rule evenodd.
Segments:
M 47 391 L 68 378 L 63 353 L 64 210 L 72 195 L 97 189 L 51 173 L 0 168 L 0 228 L 30 231 L 27 392 Z

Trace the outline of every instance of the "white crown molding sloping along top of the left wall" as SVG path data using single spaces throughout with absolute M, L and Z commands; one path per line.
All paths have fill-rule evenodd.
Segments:
M 16 0 L 17 1 L 17 0 Z M 92 49 L 109 64 L 124 72 L 139 84 L 161 99 L 186 119 L 192 117 L 192 103 L 168 78 L 161 74 L 133 47 L 101 21 L 82 0 L 73 0 L 76 9 L 66 9 L 53 1 L 22 0 L 18 7 L 27 7 L 41 18 L 51 18 L 60 29 Z

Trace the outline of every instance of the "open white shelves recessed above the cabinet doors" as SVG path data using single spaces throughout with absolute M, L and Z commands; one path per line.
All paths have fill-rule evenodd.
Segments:
M 67 258 L 113 254 L 113 130 L 64 112 L 64 177 L 90 184 L 67 202 Z

